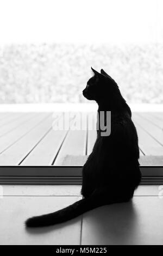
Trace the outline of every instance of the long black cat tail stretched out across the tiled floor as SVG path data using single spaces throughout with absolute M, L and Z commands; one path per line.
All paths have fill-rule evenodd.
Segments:
M 67 206 L 64 209 L 52 212 L 51 214 L 28 218 L 28 220 L 25 223 L 26 227 L 46 227 L 49 225 L 54 225 L 72 220 L 73 218 L 76 218 L 79 215 L 84 214 L 84 212 L 86 211 L 104 205 L 104 203 L 98 199 L 98 197 L 96 198 L 96 196 L 93 195 L 90 196 L 89 198 L 79 200 L 76 203 Z

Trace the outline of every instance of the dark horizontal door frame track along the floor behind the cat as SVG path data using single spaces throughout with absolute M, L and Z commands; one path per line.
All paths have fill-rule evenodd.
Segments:
M 82 168 L 83 166 L 0 166 L 0 184 L 82 184 Z M 140 170 L 141 184 L 163 184 L 163 166 L 140 166 Z

